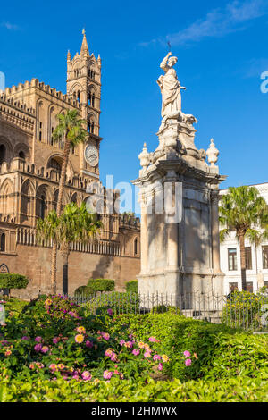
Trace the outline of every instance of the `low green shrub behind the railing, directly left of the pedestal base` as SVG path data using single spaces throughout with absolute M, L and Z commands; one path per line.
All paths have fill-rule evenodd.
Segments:
M 138 314 L 139 298 L 136 293 L 122 293 L 113 291 L 92 298 L 84 305 L 90 314 L 105 314 L 108 308 L 113 309 L 114 314 Z

